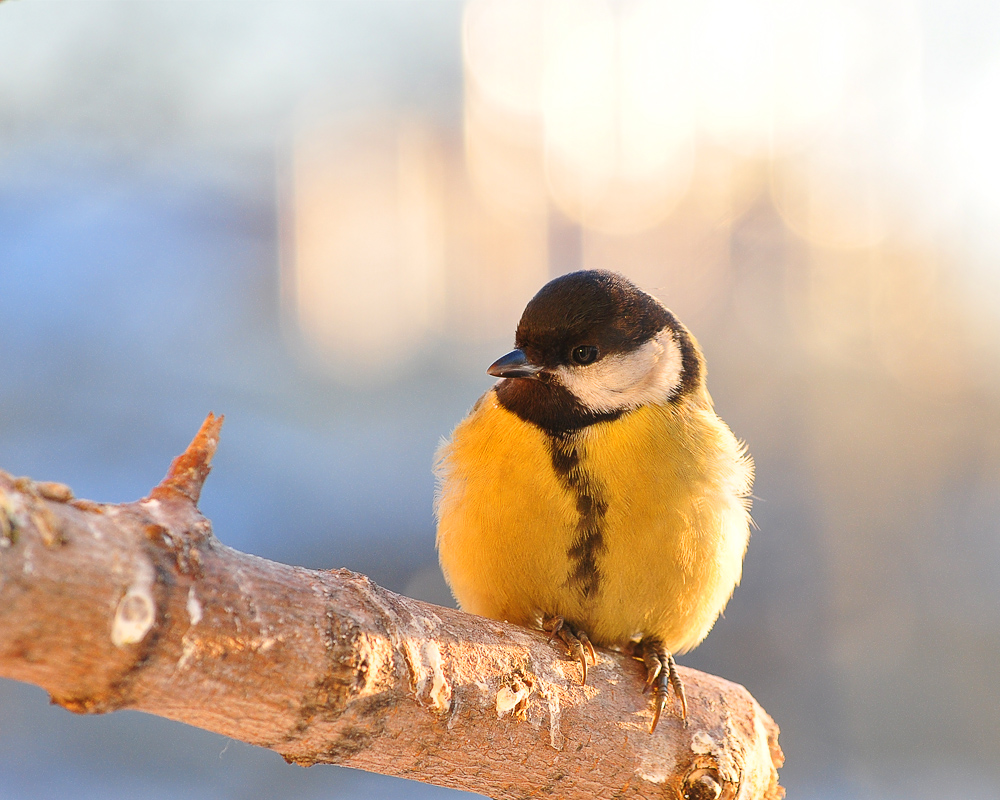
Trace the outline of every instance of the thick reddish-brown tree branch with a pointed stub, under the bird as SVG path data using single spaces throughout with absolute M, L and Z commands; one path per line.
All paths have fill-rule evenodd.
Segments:
M 783 796 L 778 728 L 742 686 L 681 668 L 689 724 L 668 707 L 650 735 L 622 654 L 581 686 L 540 633 L 221 544 L 195 506 L 221 423 L 135 503 L 0 472 L 0 676 L 497 798 Z

